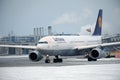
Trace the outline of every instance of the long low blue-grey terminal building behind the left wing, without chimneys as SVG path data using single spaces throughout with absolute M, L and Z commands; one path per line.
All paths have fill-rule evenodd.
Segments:
M 0 38 L 0 44 L 35 45 L 34 36 L 6 36 Z M 28 49 L 0 48 L 0 55 L 28 54 Z

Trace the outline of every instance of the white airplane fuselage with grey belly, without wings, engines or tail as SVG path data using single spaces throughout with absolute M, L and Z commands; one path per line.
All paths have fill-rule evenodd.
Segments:
M 79 55 L 75 51 L 77 46 L 87 46 L 101 43 L 101 36 L 47 36 L 41 38 L 37 50 L 43 55 Z

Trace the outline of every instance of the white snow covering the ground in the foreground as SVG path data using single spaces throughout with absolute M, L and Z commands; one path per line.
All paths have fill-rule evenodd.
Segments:
M 120 80 L 120 64 L 0 67 L 0 80 Z

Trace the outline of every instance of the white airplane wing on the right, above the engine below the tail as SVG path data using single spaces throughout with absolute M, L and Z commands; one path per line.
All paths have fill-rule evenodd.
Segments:
M 95 45 L 85 45 L 85 46 L 76 46 L 74 49 L 82 50 L 82 49 L 89 49 L 95 47 L 110 47 L 110 46 L 118 46 L 120 42 L 112 42 L 112 43 L 103 43 L 103 44 L 95 44 Z

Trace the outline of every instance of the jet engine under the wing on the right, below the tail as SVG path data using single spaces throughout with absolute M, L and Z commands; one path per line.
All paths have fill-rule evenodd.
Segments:
M 92 59 L 99 59 L 106 56 L 106 52 L 101 48 L 94 48 L 91 50 L 89 57 Z

